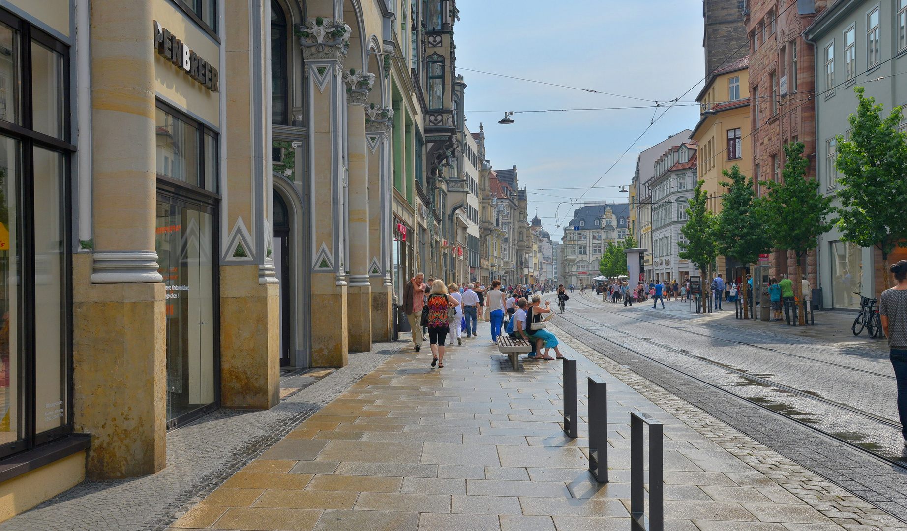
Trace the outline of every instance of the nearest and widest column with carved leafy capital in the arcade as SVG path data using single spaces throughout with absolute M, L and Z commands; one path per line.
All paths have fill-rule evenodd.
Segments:
M 343 141 L 343 62 L 350 27 L 341 20 L 312 18 L 299 29 L 306 59 L 308 175 L 311 197 L 312 365 L 342 367 L 349 350 Z

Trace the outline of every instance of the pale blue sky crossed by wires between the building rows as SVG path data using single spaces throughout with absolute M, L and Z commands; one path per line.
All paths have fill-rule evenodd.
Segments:
M 493 168 L 517 165 L 530 192 L 529 216 L 538 208 L 552 238 L 561 237 L 556 210 L 561 223 L 570 221 L 577 208 L 570 203 L 624 150 L 631 148 L 598 187 L 629 185 L 639 151 L 697 123 L 696 106 L 675 107 L 632 147 L 656 109 L 521 113 L 513 115 L 515 123 L 500 125 L 503 111 L 654 103 L 466 69 L 654 101 L 673 100 L 696 85 L 682 98 L 693 101 L 705 75 L 701 0 L 457 0 L 457 7 L 454 39 L 457 73 L 467 84 L 467 127 L 477 131 L 483 123 Z M 593 188 L 581 200 L 605 198 L 626 201 L 627 194 Z M 558 209 L 561 201 L 567 204 Z

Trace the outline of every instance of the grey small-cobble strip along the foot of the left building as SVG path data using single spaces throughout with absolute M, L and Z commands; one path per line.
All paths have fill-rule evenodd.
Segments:
M 129 531 L 164 529 L 249 460 L 256 458 L 324 404 L 373 371 L 404 342 L 375 343 L 317 382 L 290 376 L 287 397 L 270 410 L 217 410 L 167 434 L 167 468 L 116 481 L 83 481 L 0 524 L 0 531 Z M 301 391 L 300 391 L 301 390 Z M 283 392 L 288 391 L 288 392 Z

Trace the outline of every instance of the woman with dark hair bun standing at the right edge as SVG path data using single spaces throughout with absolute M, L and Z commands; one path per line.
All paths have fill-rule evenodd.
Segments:
M 907 447 L 907 260 L 892 264 L 897 285 L 882 292 L 879 315 L 882 330 L 888 338 L 889 357 L 898 381 L 898 415 L 901 434 Z

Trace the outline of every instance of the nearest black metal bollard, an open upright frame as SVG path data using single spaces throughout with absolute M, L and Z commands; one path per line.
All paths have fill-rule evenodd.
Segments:
M 629 508 L 631 531 L 647 531 L 643 488 L 643 427 L 649 425 L 649 530 L 665 529 L 664 454 L 661 422 L 648 413 L 629 414 Z

